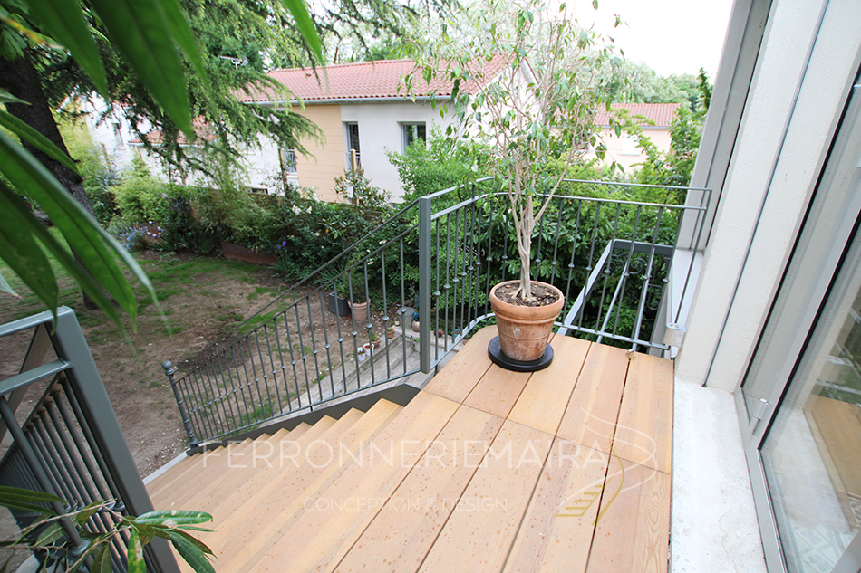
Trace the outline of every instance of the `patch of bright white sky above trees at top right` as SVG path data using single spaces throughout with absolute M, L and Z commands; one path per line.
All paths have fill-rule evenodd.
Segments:
M 614 38 L 625 59 L 645 62 L 661 75 L 696 74 L 713 79 L 721 61 L 732 0 L 568 0 L 578 23 Z M 623 24 L 614 28 L 615 15 Z

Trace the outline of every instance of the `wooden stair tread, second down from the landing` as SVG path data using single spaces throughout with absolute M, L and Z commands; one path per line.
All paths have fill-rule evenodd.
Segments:
M 341 444 L 348 451 L 353 452 L 360 445 L 365 444 L 373 436 L 378 435 L 384 428 L 392 423 L 392 420 L 400 415 L 403 408 L 388 400 L 380 400 L 366 412 L 353 427 L 343 435 Z M 257 559 L 263 556 L 259 554 L 270 548 L 279 535 L 277 530 L 285 527 L 285 523 L 291 520 L 296 512 L 302 510 L 302 506 L 309 495 L 314 494 L 327 487 L 342 471 L 343 463 L 353 463 L 349 455 L 337 458 L 323 468 L 308 468 L 303 466 L 285 475 L 282 481 L 289 480 L 290 485 L 286 491 L 279 492 L 276 500 L 257 500 L 249 504 L 247 520 L 241 527 L 233 527 L 224 531 L 219 536 L 218 542 L 212 547 L 216 555 L 222 550 L 231 550 L 230 555 L 223 559 L 224 571 L 239 571 L 249 568 Z M 313 478 L 313 479 L 312 479 Z M 293 483 L 297 487 L 293 487 Z M 256 529 L 259 526 L 260 530 Z M 237 548 L 240 548 L 237 550 Z

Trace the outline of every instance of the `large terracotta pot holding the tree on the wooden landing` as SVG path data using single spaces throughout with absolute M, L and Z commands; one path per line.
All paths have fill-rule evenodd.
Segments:
M 517 281 L 499 282 L 490 289 L 490 308 L 497 315 L 499 346 L 508 358 L 531 362 L 544 354 L 553 330 L 553 322 L 565 305 L 565 296 L 552 284 L 533 281 L 533 286 L 542 285 L 556 291 L 558 300 L 547 306 L 518 306 L 502 301 L 496 295 L 500 284 L 510 282 Z

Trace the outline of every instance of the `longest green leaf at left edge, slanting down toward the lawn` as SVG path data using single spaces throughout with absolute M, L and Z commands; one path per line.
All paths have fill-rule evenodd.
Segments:
M 137 301 L 120 266 L 105 246 L 102 227 L 63 186 L 24 148 L 0 132 L 0 172 L 18 189 L 26 189 L 63 233 L 73 252 L 93 278 L 129 313 L 137 315 Z M 106 310 L 107 311 L 107 310 Z

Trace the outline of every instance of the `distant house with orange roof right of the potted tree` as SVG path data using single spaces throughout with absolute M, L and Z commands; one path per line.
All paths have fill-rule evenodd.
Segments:
M 614 103 L 610 110 L 600 110 L 595 115 L 595 125 L 601 127 L 598 141 L 606 146 L 604 163 L 609 165 L 615 161 L 624 168 L 625 173 L 635 170 L 636 164 L 642 163 L 646 155 L 637 146 L 636 138 L 622 133 L 616 136 L 610 125 L 611 117 L 619 119 L 620 112 L 627 113 L 634 125 L 643 129 L 643 133 L 661 151 L 669 151 L 672 138 L 670 126 L 676 117 L 681 103 Z M 590 147 L 585 154 L 586 159 L 594 159 L 595 148 Z

